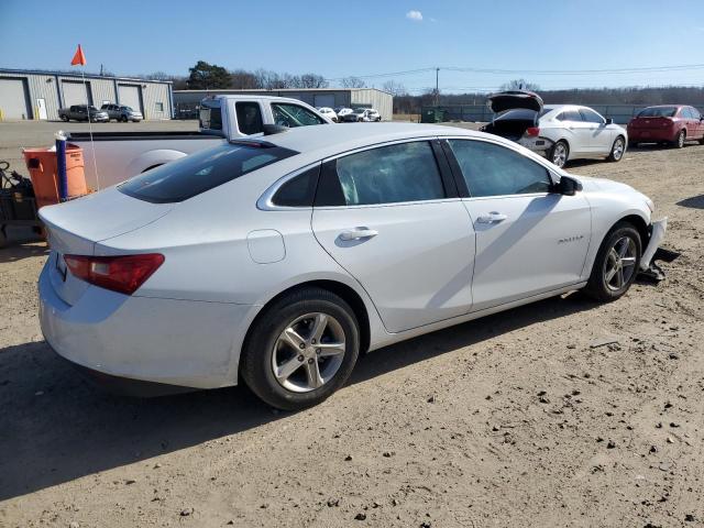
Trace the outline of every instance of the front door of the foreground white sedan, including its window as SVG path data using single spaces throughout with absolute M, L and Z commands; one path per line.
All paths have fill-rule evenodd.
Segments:
M 517 150 L 483 140 L 447 144 L 476 238 L 472 310 L 580 283 L 591 238 L 584 196 L 554 193 L 546 166 Z

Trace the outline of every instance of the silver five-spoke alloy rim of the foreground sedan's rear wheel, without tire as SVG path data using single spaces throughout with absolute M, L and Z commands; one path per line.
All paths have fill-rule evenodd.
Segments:
M 315 391 L 334 377 L 345 350 L 340 321 L 328 314 L 306 314 L 288 323 L 274 343 L 274 377 L 294 393 Z

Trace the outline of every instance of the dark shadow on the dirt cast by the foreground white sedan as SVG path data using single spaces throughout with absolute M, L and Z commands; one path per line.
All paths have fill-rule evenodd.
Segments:
M 597 306 L 570 295 L 440 330 L 362 356 L 349 384 Z M 43 341 L 0 349 L 0 501 L 288 416 L 244 387 L 151 399 L 111 395 Z

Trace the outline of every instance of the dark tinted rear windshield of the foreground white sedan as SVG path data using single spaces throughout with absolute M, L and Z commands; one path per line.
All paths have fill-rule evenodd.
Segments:
M 147 170 L 118 189 L 152 204 L 184 201 L 295 154 L 271 143 L 226 144 Z

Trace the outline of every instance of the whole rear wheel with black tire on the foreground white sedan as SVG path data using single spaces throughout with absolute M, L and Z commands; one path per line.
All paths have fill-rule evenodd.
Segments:
M 322 288 L 283 296 L 257 317 L 242 351 L 240 374 L 272 407 L 305 409 L 350 376 L 360 329 L 344 299 Z

